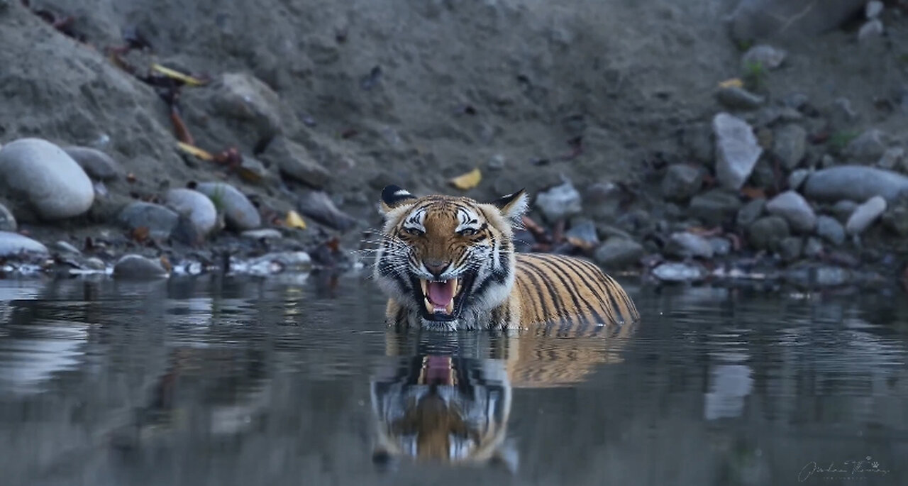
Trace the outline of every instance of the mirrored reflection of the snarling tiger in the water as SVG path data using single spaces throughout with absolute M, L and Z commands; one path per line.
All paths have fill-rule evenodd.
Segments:
M 538 332 L 386 334 L 388 362 L 373 373 L 372 460 L 518 467 L 508 437 L 514 388 L 566 386 L 620 362 L 633 326 L 596 335 Z

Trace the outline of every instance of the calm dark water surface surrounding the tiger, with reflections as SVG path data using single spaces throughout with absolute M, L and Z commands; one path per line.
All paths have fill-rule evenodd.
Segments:
M 358 277 L 0 281 L 0 482 L 908 484 L 902 293 L 629 290 L 572 338 L 386 331 Z

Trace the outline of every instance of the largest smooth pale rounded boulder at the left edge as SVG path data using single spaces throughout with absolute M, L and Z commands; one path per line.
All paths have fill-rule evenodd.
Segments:
M 40 138 L 21 138 L 0 149 L 0 183 L 25 196 L 45 220 L 78 216 L 94 202 L 94 186 L 82 167 Z

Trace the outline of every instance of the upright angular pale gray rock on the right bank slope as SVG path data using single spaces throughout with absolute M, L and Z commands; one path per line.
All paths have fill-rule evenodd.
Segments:
M 713 118 L 716 134 L 716 178 L 728 189 L 741 189 L 754 170 L 763 148 L 744 120 L 720 113 Z

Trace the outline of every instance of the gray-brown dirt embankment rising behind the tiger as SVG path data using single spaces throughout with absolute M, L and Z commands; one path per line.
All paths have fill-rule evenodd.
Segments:
M 538 193 L 566 177 L 582 209 L 565 213 L 565 228 L 577 234 L 587 223 L 595 228 L 579 246 L 593 256 L 599 245 L 625 245 L 617 260 L 598 252 L 607 266 L 638 268 L 641 258 L 652 264 L 647 254 L 712 261 L 715 252 L 707 258 L 666 249 L 672 234 L 703 233 L 704 226 L 714 232 L 708 235 L 734 243 L 738 254 L 779 254 L 775 240 L 796 237 L 803 247 L 815 231 L 788 228 L 757 253 L 737 211 L 785 192 L 787 181 L 779 181 L 792 170 L 822 168 L 824 155 L 853 132 L 875 127 L 888 137 L 886 148 L 902 144 L 904 22 L 899 5 L 889 3 L 880 17 L 884 34 L 858 42 L 864 21 L 851 20 L 854 2 L 840 2 L 850 12 L 841 19 L 795 18 L 800 11 L 784 11 L 793 5 L 785 4 L 776 17 L 795 18 L 795 27 L 801 22 L 811 36 L 799 38 L 791 34 L 796 29 L 776 32 L 776 17 L 760 16 L 772 9 L 754 10 L 760 3 L 0 2 L 0 144 L 40 137 L 94 147 L 122 170 L 103 183 L 93 177 L 94 203 L 80 216 L 48 221 L 35 214 L 27 194 L 14 191 L 3 202 L 19 231 L 48 246 L 72 243 L 104 263 L 123 253 L 216 262 L 222 251 L 327 254 L 322 243 L 335 235 L 341 247 L 353 248 L 378 223 L 374 202 L 387 183 L 488 199 L 519 187 Z M 736 15 L 731 24 L 727 15 Z M 742 64 L 761 38 L 785 50 L 780 67 Z M 116 49 L 129 43 L 128 52 Z M 122 53 L 119 61 L 115 52 Z M 242 164 L 177 149 L 185 132 L 174 126 L 173 90 L 148 75 L 154 63 L 211 80 L 179 89 L 185 132 L 212 154 L 234 147 Z M 721 102 L 717 84 L 734 77 L 762 101 Z M 804 103 L 793 104 L 795 95 Z M 755 134 L 774 134 L 780 116 L 773 110 L 785 107 L 800 116 L 785 124 L 802 126 L 810 141 L 795 166 L 766 175 L 777 154 L 764 136 L 759 143 L 767 148 L 745 175 L 744 192 L 716 185 L 714 116 L 735 114 Z M 833 142 L 817 138 L 824 130 L 832 131 Z M 829 164 L 848 162 L 839 156 Z M 696 187 L 666 198 L 663 179 L 677 164 L 696 169 Z M 462 192 L 449 185 L 473 168 L 482 172 L 478 186 Z M 173 207 L 169 190 L 208 182 L 236 187 L 259 213 L 258 226 L 280 236 L 241 236 L 256 225 L 228 215 L 207 234 L 186 236 L 176 224 L 164 228 L 171 236 L 152 238 L 136 231 L 144 220 L 123 219 L 127 204 Z M 716 188 L 739 204 L 711 221 L 697 213 L 693 198 Z M 224 220 L 223 203 L 215 203 Z M 824 213 L 820 203 L 810 204 Z M 302 214 L 306 229 L 287 227 L 290 210 Z M 546 215 L 530 214 L 551 230 L 557 222 Z M 761 210 L 757 219 L 767 215 Z M 871 231 L 877 229 L 885 231 Z M 559 244 L 558 234 L 547 243 L 550 236 L 537 234 L 537 247 L 578 251 L 576 244 Z M 848 242 L 823 244 L 826 253 L 854 253 Z M 800 251 L 792 261 L 811 258 Z

